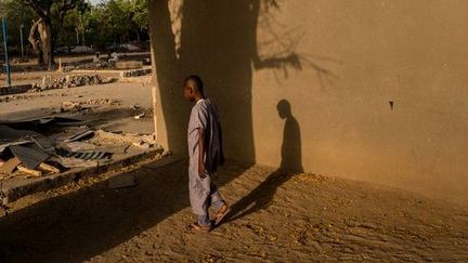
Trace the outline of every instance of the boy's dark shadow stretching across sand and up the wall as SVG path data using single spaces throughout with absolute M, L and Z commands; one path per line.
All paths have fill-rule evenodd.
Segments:
M 281 166 L 252 192 L 233 205 L 232 215 L 229 221 L 234 221 L 266 209 L 272 203 L 277 188 L 294 175 L 303 172 L 299 122 L 292 116 L 288 101 L 280 101 L 276 108 L 280 118 L 285 120 L 281 148 Z

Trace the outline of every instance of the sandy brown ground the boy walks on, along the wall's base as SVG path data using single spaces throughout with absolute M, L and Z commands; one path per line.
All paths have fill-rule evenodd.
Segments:
M 193 233 L 185 166 L 130 171 L 134 188 L 109 189 L 104 176 L 13 203 L 0 219 L 0 261 L 468 261 L 467 208 L 233 162 L 219 181 L 234 212 Z

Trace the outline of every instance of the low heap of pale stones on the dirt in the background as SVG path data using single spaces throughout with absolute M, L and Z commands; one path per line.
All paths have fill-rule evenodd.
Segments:
M 57 79 L 52 79 L 49 76 L 43 77 L 42 84 L 34 84 L 28 92 L 40 92 L 44 90 L 53 89 L 68 89 L 81 86 L 92 86 L 92 84 L 105 84 L 113 82 L 113 78 L 103 78 L 100 75 L 76 75 L 76 76 L 65 76 Z

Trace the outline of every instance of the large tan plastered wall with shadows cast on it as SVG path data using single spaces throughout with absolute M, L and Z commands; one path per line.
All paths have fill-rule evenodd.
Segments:
M 150 2 L 169 147 L 185 148 L 196 73 L 230 158 L 468 201 L 468 1 Z

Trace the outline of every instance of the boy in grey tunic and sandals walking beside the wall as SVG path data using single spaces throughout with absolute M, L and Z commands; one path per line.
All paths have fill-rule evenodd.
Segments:
M 213 206 L 214 225 L 231 211 L 213 184 L 218 166 L 224 163 L 221 124 L 218 113 L 210 100 L 204 95 L 204 86 L 198 76 L 185 78 L 183 93 L 186 100 L 195 103 L 188 122 L 188 193 L 197 222 L 191 224 L 196 231 L 211 231 L 208 208 Z

